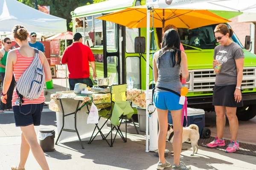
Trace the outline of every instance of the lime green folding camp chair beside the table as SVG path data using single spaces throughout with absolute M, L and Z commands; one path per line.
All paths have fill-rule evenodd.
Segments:
M 109 119 L 111 120 L 111 130 L 107 134 L 107 136 L 104 136 L 104 134 L 101 131 L 103 126 L 101 128 L 99 128 L 99 126 L 96 125 L 94 131 L 97 128 L 98 132 L 93 137 L 93 134 L 94 134 L 94 131 L 93 131 L 93 134 L 92 134 L 88 144 L 91 144 L 91 142 L 93 142 L 93 139 L 95 139 L 95 137 L 97 136 L 98 133 L 101 134 L 102 139 L 106 140 L 110 147 L 113 147 L 113 143 L 115 142 L 117 133 L 119 133 L 119 135 L 121 136 L 121 138 L 124 142 L 127 142 L 127 121 L 125 121 L 125 137 L 123 136 L 122 131 L 120 130 L 120 125 L 121 125 L 124 117 L 125 117 L 125 119 L 131 118 L 131 116 L 134 113 L 134 110 L 131 108 L 129 101 L 126 98 L 126 91 L 127 91 L 127 84 L 111 86 L 111 108 L 110 108 L 110 111 L 107 114 L 99 114 L 99 115 L 102 115 L 102 116 L 100 116 L 100 118 L 105 117 L 107 119 L 106 122 L 103 124 L 103 126 L 108 122 Z M 105 113 L 106 113 L 106 111 L 105 111 Z M 116 134 L 115 134 L 114 138 L 113 138 L 113 130 L 116 130 Z M 107 140 L 108 135 L 111 135 L 110 143 Z M 92 139 L 92 137 L 93 137 L 93 139 Z

